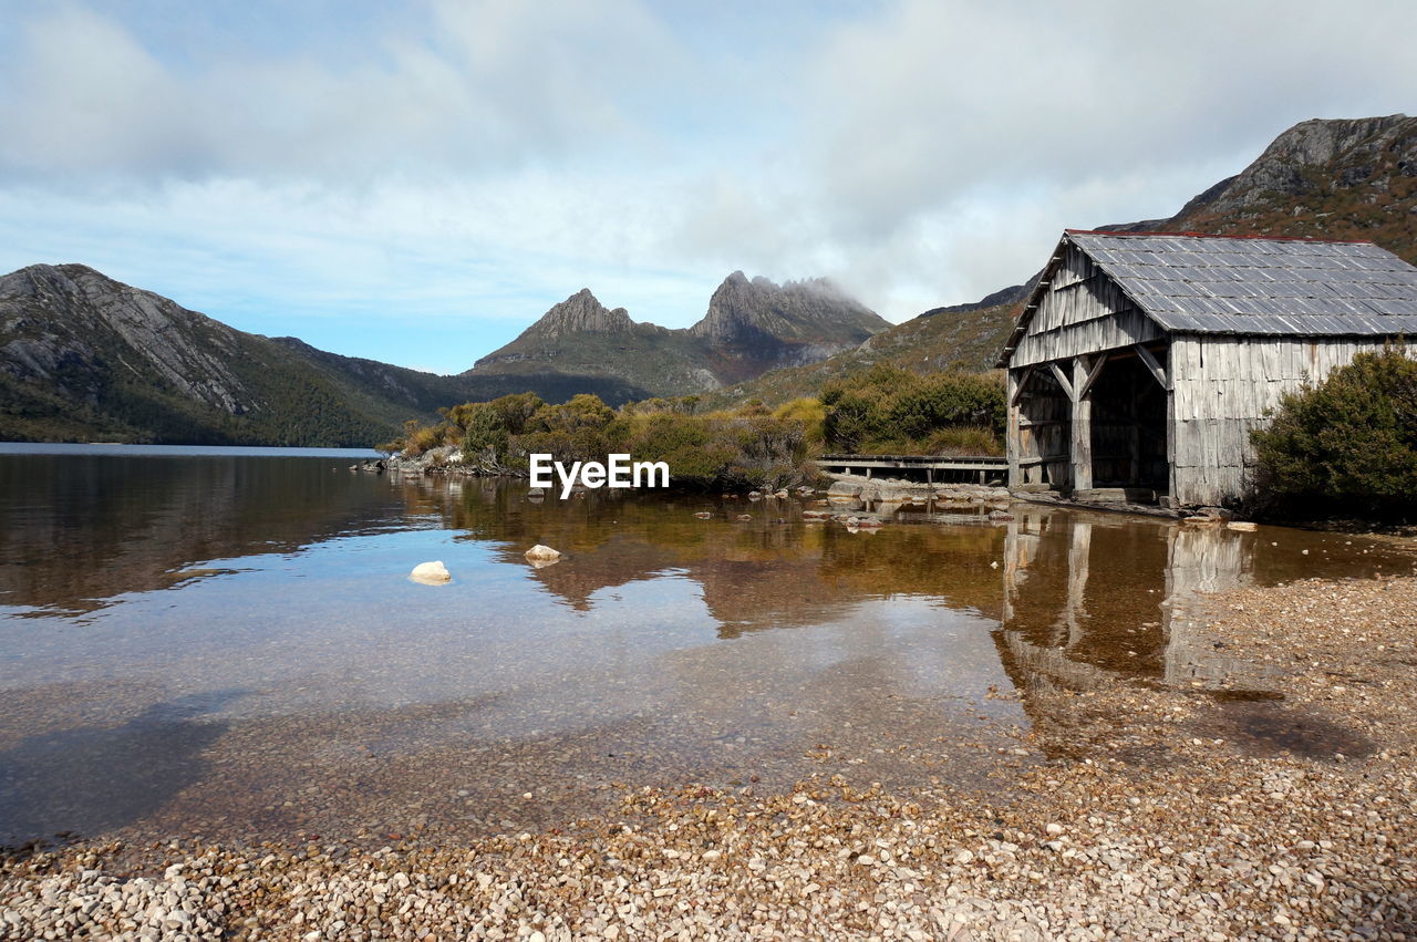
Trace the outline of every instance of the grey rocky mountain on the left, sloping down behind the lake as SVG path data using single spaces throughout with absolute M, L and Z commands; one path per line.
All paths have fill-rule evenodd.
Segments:
M 561 398 L 642 398 L 598 377 L 558 382 Z M 84 265 L 0 278 L 0 439 L 368 446 L 438 407 L 521 390 L 248 334 Z

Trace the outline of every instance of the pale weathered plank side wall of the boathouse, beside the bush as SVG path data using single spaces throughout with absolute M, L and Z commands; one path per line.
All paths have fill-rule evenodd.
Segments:
M 1322 382 L 1382 337 L 1178 334 L 1170 344 L 1170 494 L 1182 504 L 1240 497 L 1254 465 L 1250 432 L 1285 392 Z

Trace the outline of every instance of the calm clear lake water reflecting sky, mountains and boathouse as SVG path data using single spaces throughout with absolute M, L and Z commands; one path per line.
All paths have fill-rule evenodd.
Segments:
M 1413 569 L 1027 504 L 849 533 L 813 501 L 537 503 L 351 455 L 0 446 L 0 841 L 456 836 L 687 781 L 999 788 L 1044 758 L 1015 754 L 1033 690 L 1224 687 L 1197 594 Z M 568 557 L 533 568 L 536 543 Z M 429 560 L 453 581 L 407 578 Z

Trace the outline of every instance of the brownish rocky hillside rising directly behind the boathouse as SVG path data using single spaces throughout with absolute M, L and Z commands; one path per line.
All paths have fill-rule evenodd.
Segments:
M 1417 265 L 1417 118 L 1302 122 L 1175 215 L 1097 228 L 1363 239 Z M 1037 278 L 978 302 L 934 307 L 811 367 L 727 387 L 710 404 L 758 398 L 775 405 L 883 360 L 920 371 L 989 368 Z

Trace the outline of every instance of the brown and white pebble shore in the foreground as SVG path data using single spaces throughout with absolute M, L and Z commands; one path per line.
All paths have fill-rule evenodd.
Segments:
M 1044 761 L 998 789 L 686 783 L 456 846 L 79 843 L 0 864 L 0 938 L 1417 938 L 1417 579 L 1243 589 L 1203 630 L 1250 676 L 1002 694 Z

